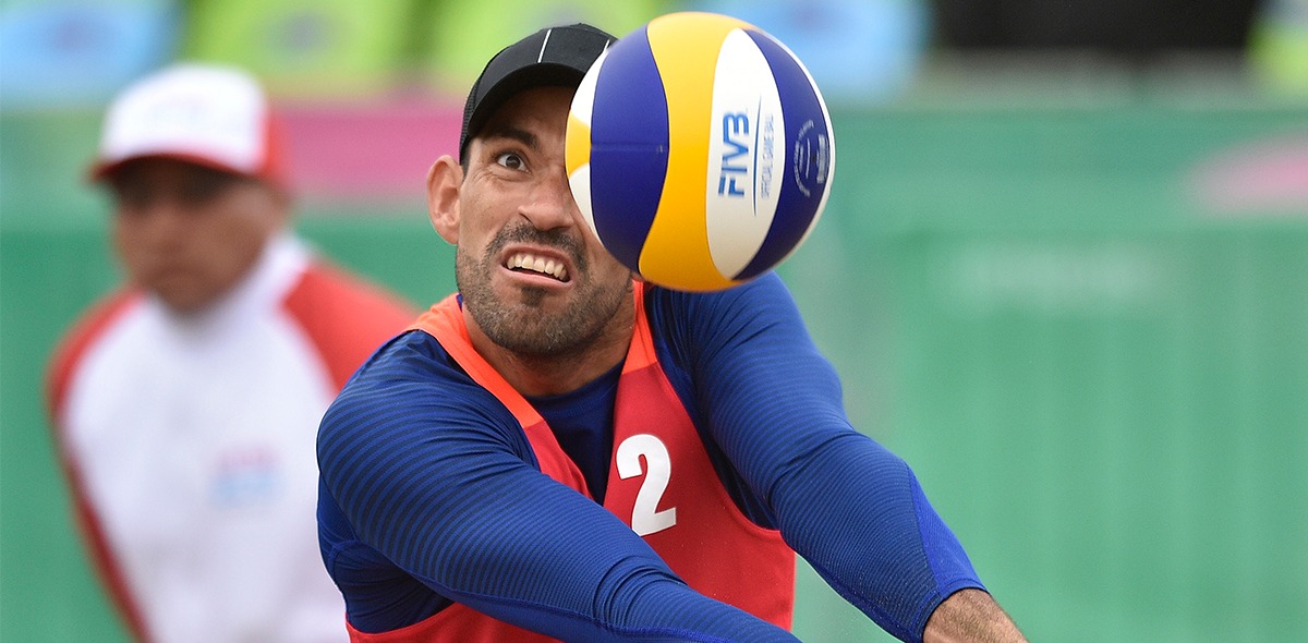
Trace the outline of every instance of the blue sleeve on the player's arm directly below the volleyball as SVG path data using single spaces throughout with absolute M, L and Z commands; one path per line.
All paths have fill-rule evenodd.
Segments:
M 709 439 L 841 596 L 921 640 L 940 601 L 982 587 L 909 467 L 850 426 L 780 277 L 713 295 L 659 290 L 650 303 Z

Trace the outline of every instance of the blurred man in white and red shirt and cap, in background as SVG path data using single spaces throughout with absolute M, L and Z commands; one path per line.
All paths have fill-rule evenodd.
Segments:
M 314 435 L 413 312 L 289 229 L 254 78 L 183 64 L 129 86 L 92 176 L 127 284 L 68 333 L 50 413 L 88 548 L 139 640 L 344 640 L 315 548 Z

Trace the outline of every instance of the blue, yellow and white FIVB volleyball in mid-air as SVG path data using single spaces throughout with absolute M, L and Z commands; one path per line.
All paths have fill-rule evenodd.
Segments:
M 566 167 L 600 243 L 647 282 L 727 289 L 781 264 L 835 171 L 818 85 L 780 41 L 715 13 L 619 38 L 573 98 Z

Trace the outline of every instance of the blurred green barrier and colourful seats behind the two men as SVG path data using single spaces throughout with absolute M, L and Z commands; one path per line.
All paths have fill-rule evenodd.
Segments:
M 1032 640 L 1308 640 L 1308 9 L 1163 51 L 978 44 L 948 5 L 695 5 L 831 88 L 833 193 L 781 273 L 854 422 Z M 118 278 L 82 182 L 114 89 L 174 58 L 256 71 L 297 227 L 425 306 L 453 252 L 422 175 L 481 61 L 540 24 L 688 7 L 0 3 L 0 639 L 126 640 L 42 412 L 55 341 Z M 888 640 L 800 571 L 800 638 Z

